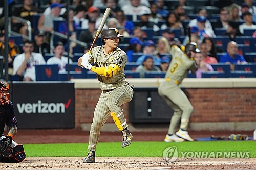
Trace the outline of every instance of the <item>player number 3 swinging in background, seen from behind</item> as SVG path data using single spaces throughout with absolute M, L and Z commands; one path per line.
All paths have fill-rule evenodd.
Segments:
M 197 52 L 200 52 L 200 50 L 194 42 L 185 46 L 185 53 L 177 45 L 173 45 L 170 50 L 173 59 L 166 71 L 164 82 L 158 87 L 159 95 L 162 96 L 167 104 L 174 110 L 173 117 L 170 120 L 168 134 L 164 139 L 165 142 L 194 141 L 187 132 L 193 106 L 180 89 L 179 84 L 186 77 L 189 70 L 196 72 L 197 64 L 194 61 L 194 57 Z M 175 127 L 179 122 L 180 129 L 175 134 Z

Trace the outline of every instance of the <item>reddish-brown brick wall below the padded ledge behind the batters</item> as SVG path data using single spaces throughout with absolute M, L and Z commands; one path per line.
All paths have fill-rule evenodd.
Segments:
M 99 89 L 75 89 L 75 128 L 92 122 L 100 93 Z M 186 88 L 186 93 L 194 106 L 190 122 L 256 121 L 256 88 Z M 122 106 L 127 122 L 128 106 Z

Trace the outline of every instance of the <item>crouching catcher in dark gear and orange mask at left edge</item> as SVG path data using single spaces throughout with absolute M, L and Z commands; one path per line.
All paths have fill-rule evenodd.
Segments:
M 8 135 L 0 137 L 0 162 L 19 163 L 26 158 L 23 145 L 13 141 L 17 133 L 17 120 L 12 102 L 9 101 L 9 84 L 0 82 L 0 133 L 3 134 L 5 124 L 9 128 Z

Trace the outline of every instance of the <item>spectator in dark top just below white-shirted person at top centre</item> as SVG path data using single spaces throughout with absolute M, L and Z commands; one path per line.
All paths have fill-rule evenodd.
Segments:
M 157 32 L 159 31 L 159 27 L 154 22 L 149 21 L 150 14 L 151 14 L 151 10 L 149 8 L 142 9 L 140 13 L 140 22 L 135 23 L 135 26 L 139 26 L 141 29 L 151 28 L 154 30 L 154 32 Z

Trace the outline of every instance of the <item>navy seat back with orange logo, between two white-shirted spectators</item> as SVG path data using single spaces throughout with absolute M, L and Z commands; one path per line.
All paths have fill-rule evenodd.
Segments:
M 54 65 L 36 65 L 36 81 L 57 81 L 59 66 Z

